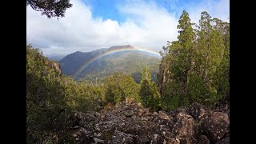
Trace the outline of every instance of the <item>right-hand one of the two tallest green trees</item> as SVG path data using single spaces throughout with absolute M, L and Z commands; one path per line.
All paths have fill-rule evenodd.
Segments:
M 220 30 L 221 21 L 212 19 L 203 11 L 199 20 L 197 54 L 195 56 L 195 74 L 191 78 L 190 87 L 196 83 L 202 83 L 196 90 L 193 88 L 190 97 L 192 102 L 202 102 L 207 106 L 218 100 L 218 85 L 215 84 L 214 75 L 218 74 L 219 66 L 223 62 L 224 42 Z

